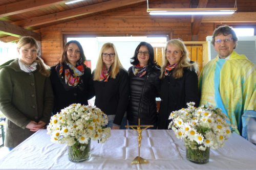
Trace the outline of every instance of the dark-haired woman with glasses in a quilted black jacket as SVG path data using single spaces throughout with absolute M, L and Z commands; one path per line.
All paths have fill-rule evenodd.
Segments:
M 141 42 L 134 53 L 129 68 L 130 102 L 127 109 L 129 125 L 154 125 L 157 128 L 156 97 L 160 90 L 160 67 L 154 61 L 154 48 Z

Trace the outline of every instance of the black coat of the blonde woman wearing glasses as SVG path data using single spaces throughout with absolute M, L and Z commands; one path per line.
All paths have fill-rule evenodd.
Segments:
M 129 78 L 127 71 L 120 69 L 115 79 L 109 78 L 107 82 L 93 81 L 93 86 L 95 106 L 107 115 L 116 115 L 113 123 L 121 125 L 129 101 Z

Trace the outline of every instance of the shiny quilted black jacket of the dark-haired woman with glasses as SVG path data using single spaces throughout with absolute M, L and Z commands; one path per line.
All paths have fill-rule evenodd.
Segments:
M 157 123 L 158 113 L 156 97 L 160 92 L 160 68 L 148 68 L 143 77 L 136 77 L 132 67 L 128 70 L 130 78 L 130 102 L 127 109 L 127 119 L 132 124 L 154 125 Z

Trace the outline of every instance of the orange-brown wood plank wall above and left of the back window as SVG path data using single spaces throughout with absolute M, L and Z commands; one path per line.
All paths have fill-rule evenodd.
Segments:
M 214 31 L 214 23 L 202 23 L 198 41 Z M 41 54 L 52 66 L 62 53 L 63 35 L 80 36 L 166 36 L 191 41 L 191 17 L 151 16 L 144 6 L 99 14 L 41 28 Z

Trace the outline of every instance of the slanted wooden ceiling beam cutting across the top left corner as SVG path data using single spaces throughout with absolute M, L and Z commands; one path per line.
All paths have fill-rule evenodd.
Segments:
M 65 3 L 63 0 L 25 0 L 0 6 L 0 17 L 45 8 L 51 5 Z

